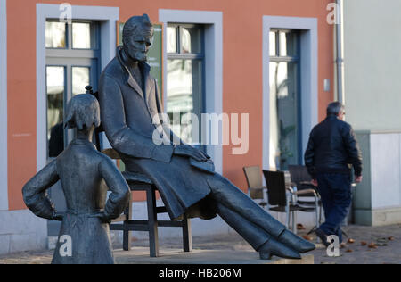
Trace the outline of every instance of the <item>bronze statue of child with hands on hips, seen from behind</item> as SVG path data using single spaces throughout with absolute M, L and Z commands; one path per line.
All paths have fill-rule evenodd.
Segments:
M 112 264 L 110 220 L 127 207 L 127 182 L 106 155 L 92 143 L 100 125 L 99 104 L 93 95 L 74 96 L 68 106 L 65 126 L 77 128 L 77 137 L 53 162 L 23 187 L 30 211 L 47 220 L 60 220 L 61 231 L 53 264 Z M 111 194 L 106 203 L 108 188 Z M 59 214 L 46 190 L 61 180 L 68 211 Z

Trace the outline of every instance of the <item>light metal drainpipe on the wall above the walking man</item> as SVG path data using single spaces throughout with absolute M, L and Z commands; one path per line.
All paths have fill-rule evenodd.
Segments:
M 343 0 L 337 0 L 337 22 L 336 33 L 337 33 L 337 93 L 338 100 L 341 104 L 345 104 L 345 85 L 344 85 L 344 37 L 343 37 Z

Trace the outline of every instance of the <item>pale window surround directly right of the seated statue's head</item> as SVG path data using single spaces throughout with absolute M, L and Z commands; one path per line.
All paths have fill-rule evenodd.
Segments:
M 223 12 L 159 10 L 159 21 L 164 23 L 164 34 L 168 23 L 194 23 L 205 26 L 205 109 L 208 113 L 223 113 Z M 167 70 L 167 43 L 163 47 L 164 70 Z M 164 71 L 167 85 L 167 71 Z M 167 87 L 164 87 L 166 109 Z M 221 135 L 221 131 L 218 133 Z M 222 137 L 219 137 L 222 140 Z M 208 153 L 215 162 L 216 171 L 223 173 L 223 145 L 208 145 Z

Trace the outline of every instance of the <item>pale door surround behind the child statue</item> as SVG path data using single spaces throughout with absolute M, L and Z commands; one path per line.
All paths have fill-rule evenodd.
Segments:
M 45 77 L 45 21 L 59 19 L 61 5 L 37 4 L 37 171 L 46 165 L 46 77 Z M 72 5 L 72 20 L 100 21 L 101 28 L 101 69 L 116 55 L 117 21 L 119 7 Z

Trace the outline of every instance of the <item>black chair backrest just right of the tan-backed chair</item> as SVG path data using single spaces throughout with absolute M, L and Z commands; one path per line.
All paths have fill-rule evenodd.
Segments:
M 263 170 L 270 205 L 286 206 L 285 175 L 283 171 Z

